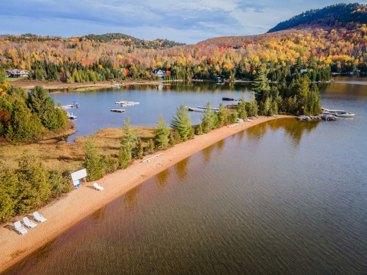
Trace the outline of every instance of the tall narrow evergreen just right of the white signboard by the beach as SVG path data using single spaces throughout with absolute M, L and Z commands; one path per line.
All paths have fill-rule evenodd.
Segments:
M 99 180 L 102 177 L 101 157 L 95 144 L 95 135 L 92 132 L 87 138 L 84 148 L 83 167 L 87 169 L 87 180 Z

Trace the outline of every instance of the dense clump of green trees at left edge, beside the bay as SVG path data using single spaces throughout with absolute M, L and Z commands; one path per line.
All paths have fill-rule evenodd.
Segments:
M 19 142 L 37 139 L 43 129 L 66 125 L 66 112 L 55 108 L 54 100 L 42 86 L 26 94 L 5 81 L 0 73 L 0 141 Z

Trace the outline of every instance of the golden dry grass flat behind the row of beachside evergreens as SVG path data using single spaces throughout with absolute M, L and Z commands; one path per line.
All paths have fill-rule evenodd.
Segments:
M 153 128 L 134 127 L 138 136 L 142 139 L 142 146 L 146 146 L 148 140 L 153 138 Z M 67 130 L 69 131 L 69 130 Z M 120 141 L 123 136 L 122 128 L 105 128 L 96 134 L 96 144 L 99 154 L 117 155 Z M 0 160 L 13 168 L 18 167 L 18 161 L 25 149 L 31 150 L 48 170 L 61 169 L 62 171 L 75 171 L 82 168 L 84 158 L 84 146 L 87 136 L 74 139 L 75 143 L 66 143 L 65 131 L 62 135 L 50 135 L 49 139 L 43 139 L 33 144 L 1 144 Z

